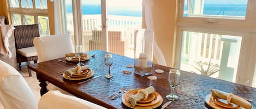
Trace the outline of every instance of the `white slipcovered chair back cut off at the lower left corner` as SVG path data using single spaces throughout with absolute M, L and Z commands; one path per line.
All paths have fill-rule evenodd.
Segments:
M 19 72 L 0 60 L 0 99 L 5 109 L 37 109 L 37 100 Z

